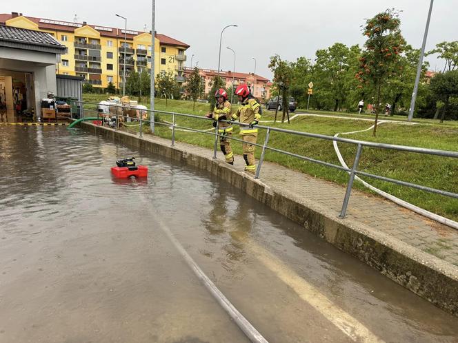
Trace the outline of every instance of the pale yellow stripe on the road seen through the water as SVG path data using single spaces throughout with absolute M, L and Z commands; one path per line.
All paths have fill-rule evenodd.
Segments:
M 299 297 L 319 311 L 327 320 L 344 332 L 355 342 L 384 342 L 372 333 L 364 324 L 353 318 L 349 313 L 336 306 L 326 295 L 323 295 L 315 286 L 301 278 L 295 271 L 281 262 L 276 256 L 268 252 L 255 242 L 247 244 L 248 249 L 280 280 L 287 284 Z

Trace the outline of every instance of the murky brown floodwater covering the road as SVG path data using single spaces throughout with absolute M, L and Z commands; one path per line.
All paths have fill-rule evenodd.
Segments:
M 147 180 L 116 180 L 136 156 Z M 65 127 L 0 127 L 0 342 L 457 342 L 458 318 L 202 171 Z

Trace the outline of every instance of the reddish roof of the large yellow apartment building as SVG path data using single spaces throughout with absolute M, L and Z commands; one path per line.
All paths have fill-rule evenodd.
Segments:
M 37 18 L 37 17 L 26 17 L 24 18 L 29 19 L 30 21 L 36 23 L 38 27 L 42 30 L 59 30 L 59 31 L 66 31 L 66 32 L 74 32 L 75 29 L 81 28 L 84 25 L 88 25 L 94 30 L 98 31 L 102 37 L 113 37 L 113 38 L 124 38 L 124 29 L 121 28 L 110 28 L 109 26 L 103 25 L 92 25 L 87 24 L 86 22 L 83 23 L 74 23 L 72 21 L 60 21 L 56 19 L 46 19 L 46 18 Z M 0 13 L 0 24 L 6 23 L 7 20 L 14 18 L 12 14 L 7 13 Z M 130 33 L 132 32 L 132 33 Z M 127 30 L 126 38 L 127 39 L 134 39 L 135 36 L 145 33 L 144 31 L 137 31 L 137 30 Z M 150 33 L 150 32 L 148 32 Z M 183 48 L 189 48 L 190 45 L 178 41 L 177 39 L 173 39 L 172 37 L 168 37 L 165 34 L 156 33 L 155 37 L 159 39 L 159 42 L 164 45 L 180 45 Z

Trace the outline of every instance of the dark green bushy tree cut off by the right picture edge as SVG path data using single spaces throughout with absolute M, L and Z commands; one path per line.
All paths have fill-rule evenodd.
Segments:
M 450 103 L 455 103 L 458 97 L 458 70 L 451 70 L 446 73 L 436 74 L 431 80 L 430 88 L 432 94 L 441 101 L 437 106 L 441 106 L 441 123 L 444 118 Z M 440 105 L 439 105 L 440 104 Z

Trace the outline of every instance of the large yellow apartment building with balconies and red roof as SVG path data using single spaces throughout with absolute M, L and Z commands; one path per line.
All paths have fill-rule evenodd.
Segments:
M 56 65 L 56 73 L 83 76 L 94 87 L 109 82 L 121 88 L 124 65 L 126 77 L 132 70 L 151 68 L 151 33 L 26 17 L 22 13 L 0 14 L 0 25 L 47 32 L 67 47 Z M 124 37 L 126 36 L 126 41 Z M 155 34 L 155 72 L 172 71 L 179 83 L 185 81 L 184 62 L 189 45 L 165 34 Z

